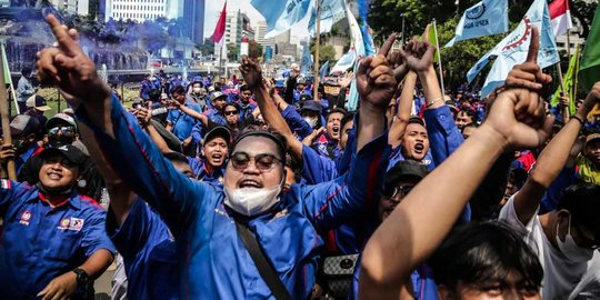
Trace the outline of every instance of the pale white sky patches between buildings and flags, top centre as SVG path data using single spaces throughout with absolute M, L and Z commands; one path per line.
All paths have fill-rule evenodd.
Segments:
M 217 21 L 219 20 L 219 14 L 223 9 L 224 1 L 226 0 L 207 0 L 204 2 L 204 38 L 210 38 L 212 36 Z M 264 18 L 262 18 L 262 16 L 250 4 L 250 0 L 229 0 L 227 2 L 227 11 L 237 11 L 238 9 L 248 14 L 252 27 L 256 27 L 259 21 L 264 20 Z M 303 29 L 308 28 L 308 18 L 306 18 L 292 29 L 292 40 L 308 34 L 308 30 Z

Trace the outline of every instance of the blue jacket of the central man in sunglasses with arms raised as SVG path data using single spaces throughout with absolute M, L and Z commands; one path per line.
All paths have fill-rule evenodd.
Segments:
M 234 219 L 248 223 L 290 294 L 307 298 L 323 244 L 317 232 L 359 213 L 363 201 L 382 189 L 387 134 L 354 153 L 346 176 L 317 186 L 293 184 L 271 210 L 243 218 L 224 206 L 220 188 L 176 171 L 116 98 L 111 107 L 114 138 L 91 128 L 111 166 L 157 209 L 176 237 L 182 298 L 272 298 L 237 234 Z M 87 122 L 83 109 L 77 114 Z

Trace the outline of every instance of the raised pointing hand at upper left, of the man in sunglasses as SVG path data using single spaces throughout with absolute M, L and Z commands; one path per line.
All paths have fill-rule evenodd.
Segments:
M 54 83 L 77 99 L 108 98 L 110 88 L 98 77 L 94 63 L 83 53 L 77 41 L 77 31 L 61 26 L 52 14 L 46 21 L 57 38 L 57 47 L 37 54 L 36 70 L 40 81 Z

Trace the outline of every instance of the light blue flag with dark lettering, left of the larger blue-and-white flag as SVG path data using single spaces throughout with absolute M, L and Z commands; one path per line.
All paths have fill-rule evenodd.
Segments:
M 454 38 L 444 47 L 452 47 L 457 41 L 507 32 L 508 24 L 508 0 L 483 0 L 464 11 Z

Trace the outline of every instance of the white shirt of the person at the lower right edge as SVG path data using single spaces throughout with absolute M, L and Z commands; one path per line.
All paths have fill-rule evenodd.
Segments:
M 571 262 L 560 250 L 556 249 L 543 233 L 538 212 L 531 217 L 527 224 L 521 223 L 514 211 L 516 194 L 502 208 L 499 219 L 524 229 L 527 232 L 526 242 L 533 251 L 538 251 L 543 267 L 542 299 L 572 299 L 574 296 L 571 296 L 571 292 L 588 270 L 588 262 Z

